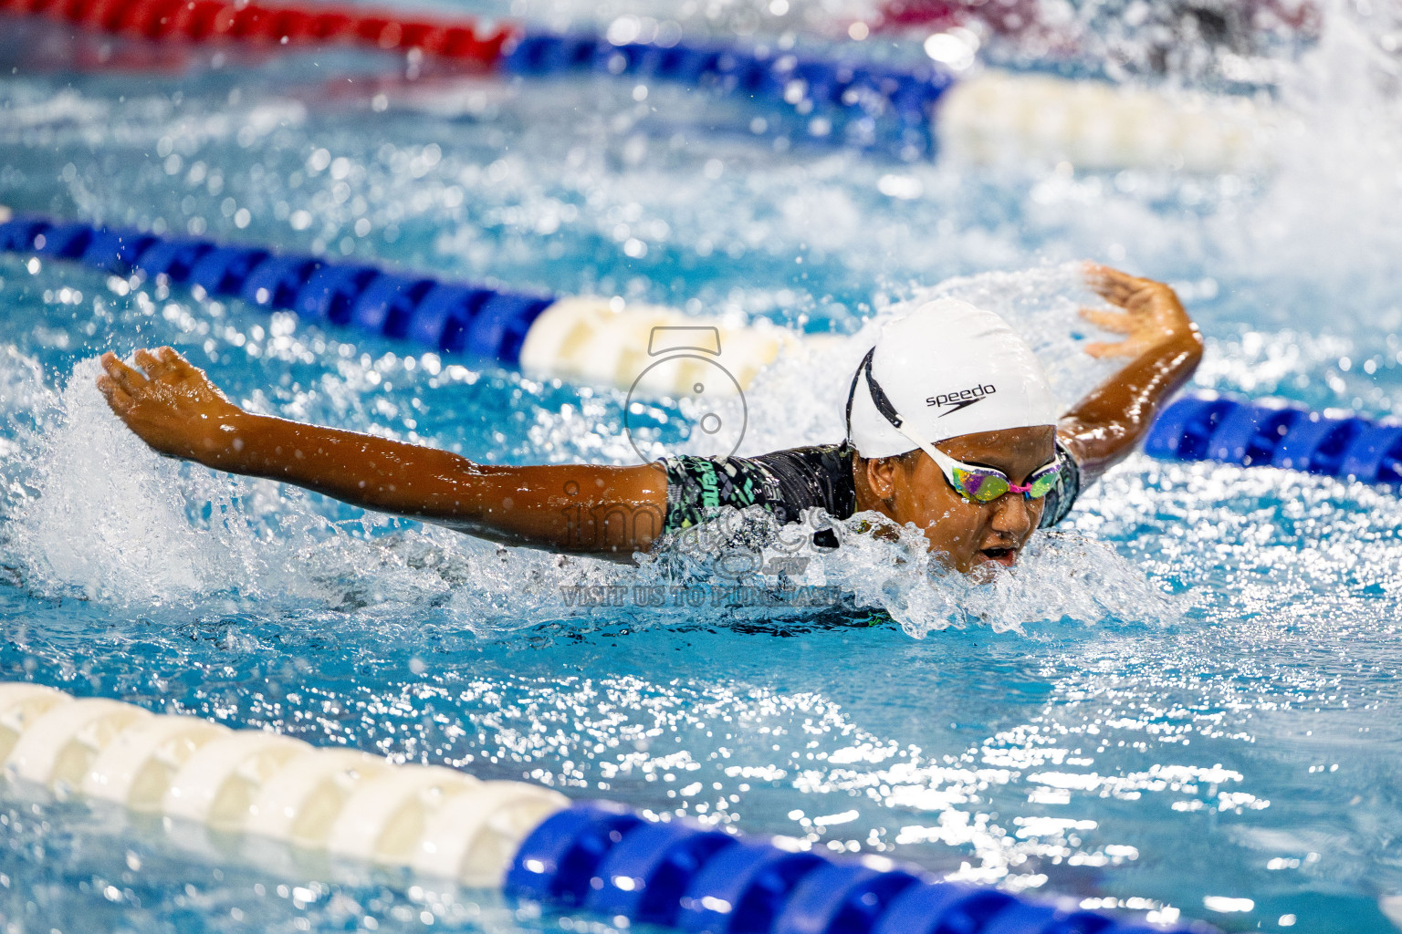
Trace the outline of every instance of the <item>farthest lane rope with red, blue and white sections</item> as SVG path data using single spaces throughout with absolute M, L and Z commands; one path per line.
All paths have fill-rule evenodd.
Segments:
M 976 69 L 956 80 L 935 60 L 873 60 L 859 42 L 815 55 L 674 42 L 639 36 L 638 28 L 617 35 L 558 34 L 509 20 L 405 18 L 320 3 L 247 0 L 0 0 L 0 13 L 150 41 L 416 49 L 508 76 L 593 73 L 669 81 L 768 105 L 777 119 L 773 127 L 768 120 L 756 125 L 761 133 L 873 148 L 906 161 L 945 150 L 980 162 L 1258 168 L 1270 162 L 1277 123 L 1266 105 L 1249 98 L 1171 97 L 1095 80 Z M 973 49 L 967 59 L 973 62 Z

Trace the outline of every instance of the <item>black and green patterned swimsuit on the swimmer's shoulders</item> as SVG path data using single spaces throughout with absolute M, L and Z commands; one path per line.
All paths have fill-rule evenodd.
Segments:
M 803 511 L 815 506 L 833 518 L 850 518 L 857 511 L 855 454 L 848 444 L 824 444 L 754 458 L 666 458 L 662 462 L 667 472 L 665 529 L 674 532 L 700 525 L 722 506 L 737 510 L 758 506 L 785 525 L 799 521 Z M 1061 461 L 1061 476 L 1047 494 L 1042 528 L 1066 518 L 1081 492 L 1081 469 L 1075 459 L 1060 442 L 1056 455 Z

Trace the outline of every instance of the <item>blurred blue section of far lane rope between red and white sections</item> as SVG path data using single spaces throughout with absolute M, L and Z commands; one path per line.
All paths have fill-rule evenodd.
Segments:
M 592 34 L 529 31 L 498 67 L 520 77 L 629 76 L 778 105 L 798 139 L 882 148 L 907 161 L 934 157 L 935 104 L 955 78 L 931 64 L 900 67 L 721 45 L 614 45 Z M 788 126 L 785 126 L 788 123 Z

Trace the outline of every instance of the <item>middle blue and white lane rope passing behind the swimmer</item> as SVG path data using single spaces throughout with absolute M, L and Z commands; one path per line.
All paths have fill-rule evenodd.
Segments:
M 74 260 L 116 276 L 164 276 L 207 295 L 292 311 L 308 323 L 349 326 L 435 353 L 519 367 L 540 378 L 620 389 L 637 385 L 659 396 L 687 395 L 695 372 L 687 356 L 649 365 L 658 328 L 714 329 L 721 344 L 716 360 L 742 389 L 782 351 L 819 339 L 770 322 L 737 328 L 676 308 L 628 305 L 617 297 L 513 293 L 206 239 L 32 216 L 7 218 L 3 209 L 0 252 Z M 1316 413 L 1270 399 L 1180 398 L 1159 413 L 1144 451 L 1168 461 L 1402 483 L 1402 423 Z

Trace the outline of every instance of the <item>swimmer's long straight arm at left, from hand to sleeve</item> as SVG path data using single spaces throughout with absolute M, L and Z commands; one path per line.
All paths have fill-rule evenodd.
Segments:
M 656 465 L 494 466 L 437 448 L 244 412 L 171 347 L 108 353 L 97 385 L 157 452 L 292 483 L 506 545 L 627 560 L 662 534 Z

